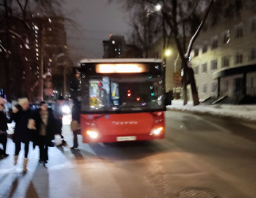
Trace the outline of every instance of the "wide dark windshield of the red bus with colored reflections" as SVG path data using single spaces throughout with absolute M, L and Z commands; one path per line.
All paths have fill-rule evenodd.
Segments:
M 158 111 L 165 108 L 162 76 L 82 77 L 81 110 L 89 112 Z

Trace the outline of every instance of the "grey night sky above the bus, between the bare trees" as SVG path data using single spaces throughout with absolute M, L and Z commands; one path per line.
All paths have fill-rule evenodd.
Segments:
M 108 0 L 72 0 L 65 1 L 63 14 L 73 19 L 80 27 L 67 24 L 67 43 L 71 56 L 77 61 L 80 58 L 102 58 L 102 41 L 113 35 L 124 35 L 130 26 L 129 15 L 120 4 L 108 4 Z

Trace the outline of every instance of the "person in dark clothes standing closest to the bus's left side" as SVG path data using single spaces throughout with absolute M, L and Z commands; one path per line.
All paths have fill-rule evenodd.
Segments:
M 80 103 L 76 97 L 73 98 L 73 107 L 71 110 L 71 114 L 72 114 L 72 120 L 76 120 L 77 123 L 79 123 L 80 125 Z M 73 131 L 74 139 L 73 139 L 73 146 L 71 147 L 71 149 L 78 148 L 77 135 L 79 134 L 80 134 L 80 129 Z

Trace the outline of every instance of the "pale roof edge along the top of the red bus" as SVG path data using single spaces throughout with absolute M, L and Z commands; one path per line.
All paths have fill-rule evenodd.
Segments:
M 103 58 L 103 59 L 82 59 L 81 63 L 161 63 L 161 59 L 155 58 Z

